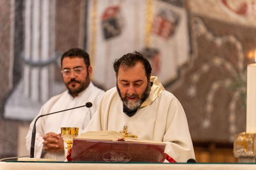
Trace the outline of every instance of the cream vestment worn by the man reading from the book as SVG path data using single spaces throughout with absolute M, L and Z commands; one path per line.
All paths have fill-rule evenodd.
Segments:
M 195 158 L 186 116 L 178 99 L 166 91 L 157 77 L 151 76 L 150 95 L 138 108 L 135 115 L 129 117 L 123 112 L 123 102 L 116 87 L 103 96 L 96 113 L 89 122 L 87 131 L 123 131 L 139 139 L 163 141 L 165 153 L 177 162 L 186 162 Z

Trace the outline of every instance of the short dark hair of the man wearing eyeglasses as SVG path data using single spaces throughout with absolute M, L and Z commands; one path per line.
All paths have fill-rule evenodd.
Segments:
M 88 66 L 90 66 L 89 54 L 86 51 L 84 51 L 83 49 L 73 48 L 73 49 L 70 49 L 70 50 L 64 52 L 62 54 L 62 56 L 61 56 L 61 68 L 62 68 L 62 61 L 63 61 L 63 59 L 65 57 L 70 57 L 70 58 L 79 57 L 79 58 L 83 58 L 86 67 L 88 68 Z

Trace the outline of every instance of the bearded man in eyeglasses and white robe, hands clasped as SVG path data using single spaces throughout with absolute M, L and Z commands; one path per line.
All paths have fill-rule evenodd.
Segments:
M 65 160 L 64 142 L 60 135 L 60 127 L 79 127 L 81 132 L 87 126 L 104 94 L 103 90 L 92 84 L 91 72 L 90 58 L 87 52 L 73 48 L 63 53 L 61 73 L 67 90 L 47 101 L 41 107 L 37 117 L 41 114 L 85 105 L 86 102 L 91 102 L 92 107 L 82 107 L 38 119 L 35 143 L 36 158 Z M 28 150 L 30 150 L 34 121 L 35 119 L 30 124 L 26 136 Z

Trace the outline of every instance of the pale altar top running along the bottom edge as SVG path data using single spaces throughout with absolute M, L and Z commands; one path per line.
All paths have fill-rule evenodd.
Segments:
M 256 164 L 0 162 L 0 170 L 256 170 Z

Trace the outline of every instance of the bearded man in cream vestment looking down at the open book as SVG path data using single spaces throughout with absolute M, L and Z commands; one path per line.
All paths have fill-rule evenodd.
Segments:
M 186 116 L 181 103 L 166 91 L 139 52 L 114 62 L 117 85 L 103 96 L 87 131 L 123 131 L 139 139 L 163 141 L 165 153 L 177 162 L 195 158 Z

